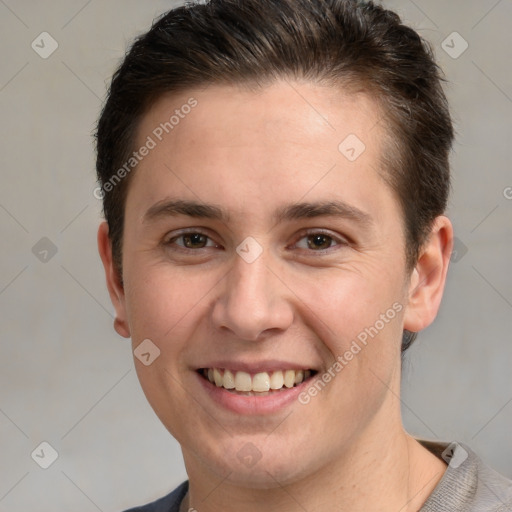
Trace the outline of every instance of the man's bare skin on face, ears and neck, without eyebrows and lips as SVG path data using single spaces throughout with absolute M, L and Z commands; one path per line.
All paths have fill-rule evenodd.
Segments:
M 403 215 L 381 177 L 385 125 L 363 93 L 279 81 L 258 91 L 211 85 L 167 95 L 143 118 L 136 147 L 190 97 L 197 107 L 131 177 L 122 285 L 107 225 L 98 232 L 116 331 L 134 349 L 149 338 L 161 351 L 151 365 L 135 365 L 181 444 L 190 480 L 184 510 L 418 510 L 446 465 L 402 426 L 400 343 L 404 328 L 420 331 L 437 314 L 450 221 L 436 219 L 407 272 Z M 353 162 L 338 150 L 349 134 L 366 146 Z M 219 205 L 229 219 L 145 220 L 169 198 Z M 332 200 L 370 223 L 272 217 L 285 204 Z M 184 252 L 190 239 L 176 238 L 184 228 L 206 234 L 206 245 Z M 306 229 L 332 238 L 308 245 L 315 237 Z M 236 252 L 249 236 L 263 249 L 250 264 Z M 224 357 L 291 361 L 321 375 L 395 303 L 403 309 L 307 405 L 240 415 L 198 384 L 196 368 Z M 261 453 L 252 467 L 237 457 L 246 443 Z

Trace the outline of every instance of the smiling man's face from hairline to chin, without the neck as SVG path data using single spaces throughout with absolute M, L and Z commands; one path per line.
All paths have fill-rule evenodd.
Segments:
M 410 276 L 380 117 L 364 94 L 278 82 L 163 97 L 142 120 L 117 328 L 136 353 L 150 340 L 138 376 L 189 474 L 293 482 L 399 421 Z

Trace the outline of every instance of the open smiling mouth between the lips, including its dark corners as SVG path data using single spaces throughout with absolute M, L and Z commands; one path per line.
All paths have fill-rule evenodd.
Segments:
M 316 370 L 278 370 L 254 375 L 225 368 L 200 368 L 199 375 L 219 388 L 237 395 L 265 396 L 296 387 L 311 379 Z

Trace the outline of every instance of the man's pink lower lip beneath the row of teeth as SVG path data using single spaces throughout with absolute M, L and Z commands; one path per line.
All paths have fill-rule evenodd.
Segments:
M 311 384 L 312 378 L 301 382 L 293 388 L 285 388 L 263 396 L 237 395 L 223 387 L 212 384 L 208 379 L 196 372 L 203 389 L 214 402 L 237 414 L 258 415 L 272 414 L 285 409 L 291 403 L 298 401 L 301 391 Z

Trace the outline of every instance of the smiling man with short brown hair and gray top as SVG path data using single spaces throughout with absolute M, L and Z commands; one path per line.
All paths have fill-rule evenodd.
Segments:
M 400 417 L 453 246 L 440 80 L 371 2 L 212 0 L 135 42 L 98 123 L 98 245 L 189 480 L 134 510 L 512 510 Z

